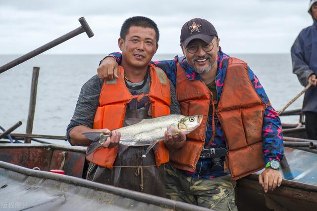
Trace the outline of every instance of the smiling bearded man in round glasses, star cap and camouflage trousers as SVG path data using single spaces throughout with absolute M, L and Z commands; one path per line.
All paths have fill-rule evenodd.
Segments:
M 264 192 L 281 184 L 280 119 L 248 65 L 222 52 L 209 21 L 186 22 L 180 46 L 185 57 L 153 63 L 176 85 L 181 113 L 204 118 L 186 141 L 167 145 L 167 198 L 214 210 L 237 210 L 235 180 L 265 166 L 259 176 Z M 106 56 L 99 77 L 116 78 L 120 60 L 119 53 Z

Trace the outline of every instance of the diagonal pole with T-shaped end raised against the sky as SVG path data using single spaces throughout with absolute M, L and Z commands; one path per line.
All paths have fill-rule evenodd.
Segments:
M 12 67 L 15 67 L 18 64 L 21 64 L 22 62 L 25 62 L 26 60 L 29 60 L 30 58 L 33 58 L 34 56 L 39 55 L 40 53 L 43 53 L 44 51 L 47 51 L 48 49 L 51 49 L 52 47 L 54 47 L 62 42 L 65 42 L 65 41 L 83 33 L 83 32 L 86 32 L 86 34 L 88 35 L 89 38 L 93 37 L 94 33 L 91 31 L 85 18 L 84 17 L 79 18 L 79 22 L 80 22 L 81 26 L 78 27 L 77 29 L 75 29 L 75 30 L 73 30 L 73 31 L 71 31 L 71 32 L 45 44 L 45 45 L 42 45 L 41 47 L 36 48 L 35 50 L 32 50 L 31 52 L 1 66 L 0 67 L 0 74 L 3 73 L 4 71 L 7 71 L 8 69 L 10 69 Z

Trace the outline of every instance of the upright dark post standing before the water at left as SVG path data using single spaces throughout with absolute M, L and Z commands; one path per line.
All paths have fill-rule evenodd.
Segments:
M 33 121 L 34 121 L 39 74 L 40 74 L 40 68 L 33 67 L 30 103 L 29 103 L 29 114 L 28 114 L 28 120 L 26 123 L 26 131 L 25 131 L 26 134 L 32 134 L 32 130 L 33 130 Z M 24 143 L 31 143 L 31 138 L 26 137 L 24 139 Z

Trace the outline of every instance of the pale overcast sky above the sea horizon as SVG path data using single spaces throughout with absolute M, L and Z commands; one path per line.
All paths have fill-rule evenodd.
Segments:
M 123 21 L 142 15 L 159 27 L 157 53 L 180 53 L 182 25 L 209 20 L 226 53 L 289 53 L 298 33 L 312 25 L 309 0 L 0 0 L 0 54 L 24 54 L 80 26 L 84 16 L 95 36 L 81 34 L 47 54 L 118 51 Z

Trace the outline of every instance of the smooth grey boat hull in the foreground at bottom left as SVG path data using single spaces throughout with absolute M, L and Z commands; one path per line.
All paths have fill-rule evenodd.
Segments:
M 0 161 L 2 210 L 210 211 L 182 202 L 86 179 L 27 169 Z

